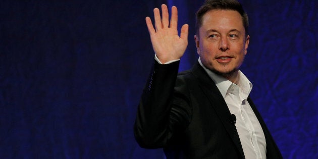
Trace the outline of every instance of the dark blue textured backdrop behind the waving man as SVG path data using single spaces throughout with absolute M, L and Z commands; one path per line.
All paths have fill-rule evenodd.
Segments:
M 144 18 L 163 3 L 179 8 L 186 70 L 202 1 L 3 1 L 0 158 L 163 158 L 133 137 L 153 62 Z M 318 158 L 318 2 L 241 2 L 252 98 L 284 158 Z

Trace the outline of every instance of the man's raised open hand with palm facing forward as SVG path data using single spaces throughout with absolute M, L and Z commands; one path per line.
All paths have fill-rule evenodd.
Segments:
M 180 59 L 188 45 L 188 24 L 181 27 L 180 37 L 178 35 L 178 10 L 177 7 L 171 8 L 171 19 L 169 25 L 168 7 L 162 5 L 162 18 L 160 10 L 153 9 L 154 26 L 151 19 L 146 17 L 146 24 L 150 34 L 153 50 L 157 58 L 164 64 L 168 61 Z

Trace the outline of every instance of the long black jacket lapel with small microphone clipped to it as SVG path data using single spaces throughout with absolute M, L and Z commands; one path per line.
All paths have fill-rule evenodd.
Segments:
M 229 117 L 231 115 L 230 110 L 218 87 L 198 62 L 192 67 L 191 72 L 196 77 L 201 90 L 206 95 L 206 98 L 210 101 L 212 107 L 217 112 L 218 117 L 222 121 L 222 124 L 226 128 L 230 138 L 240 151 L 242 157 L 244 157 L 243 148 L 236 127 L 229 122 Z

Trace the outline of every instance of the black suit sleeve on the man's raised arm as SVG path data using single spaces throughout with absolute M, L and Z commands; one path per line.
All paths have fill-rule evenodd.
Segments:
M 167 65 L 154 62 L 134 125 L 135 139 L 141 147 L 165 147 L 174 133 L 188 123 L 184 115 L 188 113 L 178 106 L 188 103 L 182 93 L 176 93 L 178 69 L 179 61 Z

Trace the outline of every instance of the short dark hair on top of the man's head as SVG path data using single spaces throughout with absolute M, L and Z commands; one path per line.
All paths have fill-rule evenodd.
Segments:
M 245 13 L 243 6 L 236 0 L 205 0 L 204 4 L 196 12 L 195 31 L 199 36 L 199 29 L 202 25 L 202 17 L 205 13 L 211 10 L 233 10 L 237 11 L 243 21 L 245 35 L 248 35 L 248 16 Z

